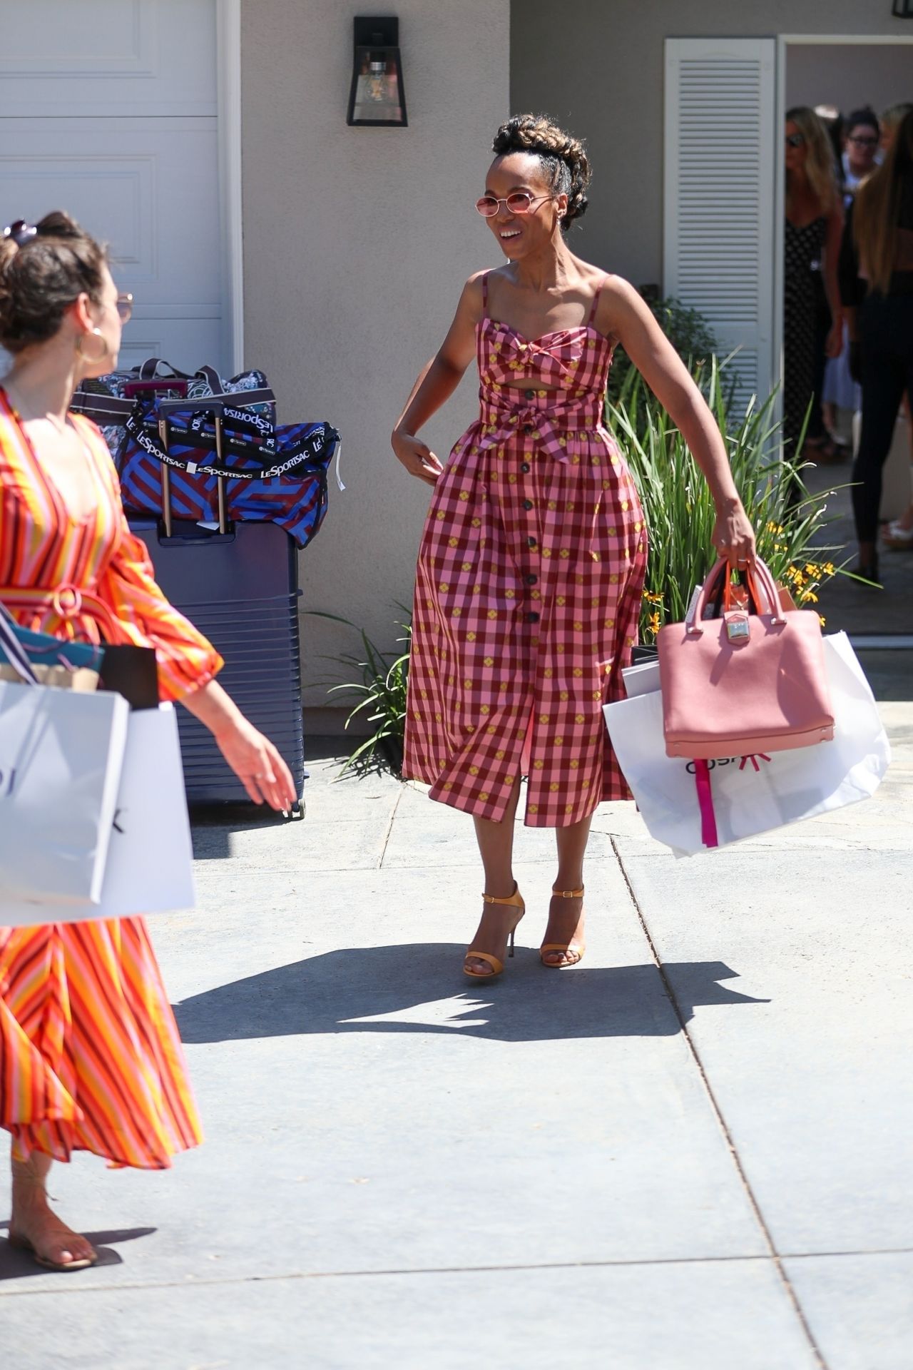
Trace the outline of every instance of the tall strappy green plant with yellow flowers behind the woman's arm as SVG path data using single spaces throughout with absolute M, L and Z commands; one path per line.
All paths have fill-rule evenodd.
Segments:
M 836 548 L 816 545 L 812 551 L 834 490 L 810 495 L 799 474 L 808 463 L 783 459 L 775 395 L 760 406 L 751 400 L 738 414 L 715 356 L 706 364 L 693 364 L 691 371 L 723 433 L 735 485 L 757 534 L 758 555 L 775 580 L 791 588 L 797 603 L 816 604 L 820 585 L 836 574 L 832 562 L 821 560 Z M 682 434 L 636 371 L 628 373 L 616 401 L 608 406 L 608 418 L 638 486 L 647 525 L 641 641 L 650 645 L 663 623 L 684 619 L 694 585 L 709 570 L 716 510 Z M 798 490 L 794 503 L 791 482 Z

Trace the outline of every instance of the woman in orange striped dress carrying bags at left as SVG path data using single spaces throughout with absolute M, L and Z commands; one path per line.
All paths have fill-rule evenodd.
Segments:
M 285 762 L 216 684 L 222 659 L 174 610 L 120 508 L 74 386 L 116 363 L 130 297 L 64 214 L 0 241 L 0 600 L 63 638 L 153 645 L 164 699 L 205 723 L 256 803 L 289 808 Z M 8 1237 L 52 1270 L 96 1252 L 49 1208 L 52 1160 L 92 1151 L 160 1170 L 201 1140 L 177 1025 L 142 918 L 3 927 L 0 1126 L 12 1133 Z

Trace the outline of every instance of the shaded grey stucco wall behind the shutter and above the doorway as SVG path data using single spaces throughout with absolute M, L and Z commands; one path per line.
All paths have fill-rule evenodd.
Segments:
M 910 37 L 913 22 L 888 0 L 513 0 L 511 107 L 567 121 L 595 167 L 576 251 L 661 282 L 664 38 L 779 33 Z

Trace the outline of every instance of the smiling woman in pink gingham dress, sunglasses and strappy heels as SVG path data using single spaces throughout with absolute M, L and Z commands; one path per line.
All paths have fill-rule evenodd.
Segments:
M 604 799 L 630 799 L 602 722 L 623 697 L 646 569 L 634 481 L 602 406 L 621 342 L 667 406 L 717 504 L 713 541 L 732 563 L 754 536 L 713 418 L 627 282 L 575 258 L 586 208 L 582 145 L 541 116 L 496 136 L 478 201 L 508 264 L 467 282 L 456 318 L 394 433 L 434 486 L 419 552 L 402 774 L 472 814 L 485 866 L 482 922 L 464 970 L 491 978 L 524 912 L 513 818 L 554 827 L 558 870 L 542 963 L 583 955 L 583 856 Z M 416 433 L 476 356 L 478 421 L 446 469 Z

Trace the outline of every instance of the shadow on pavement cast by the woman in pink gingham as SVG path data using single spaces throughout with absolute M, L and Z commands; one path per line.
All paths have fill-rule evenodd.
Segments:
M 553 971 L 519 948 L 504 978 L 486 984 L 461 974 L 464 952 L 448 943 L 333 951 L 194 995 L 174 1012 L 185 1043 L 339 1032 L 549 1041 L 680 1030 L 654 964 Z M 664 970 L 684 1022 L 697 1004 L 769 1003 L 720 985 L 736 971 L 719 960 Z

